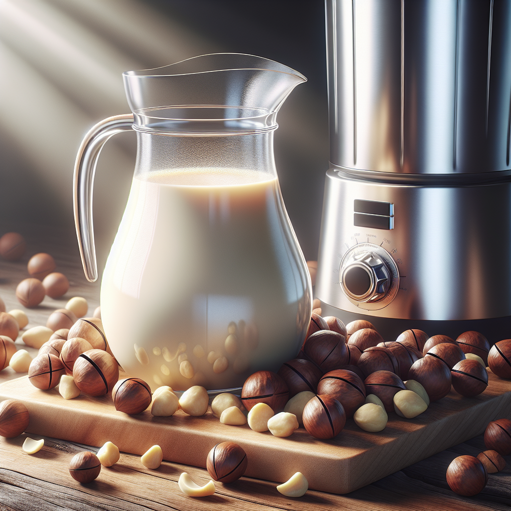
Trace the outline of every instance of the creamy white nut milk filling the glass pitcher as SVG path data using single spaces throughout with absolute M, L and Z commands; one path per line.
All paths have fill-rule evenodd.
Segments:
M 309 323 L 300 258 L 270 174 L 135 176 L 101 287 L 113 354 L 153 389 L 234 388 L 278 370 Z

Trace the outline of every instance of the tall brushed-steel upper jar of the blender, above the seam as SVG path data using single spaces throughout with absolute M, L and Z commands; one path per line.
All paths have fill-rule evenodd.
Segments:
M 326 0 L 326 12 L 334 165 L 511 169 L 511 2 Z

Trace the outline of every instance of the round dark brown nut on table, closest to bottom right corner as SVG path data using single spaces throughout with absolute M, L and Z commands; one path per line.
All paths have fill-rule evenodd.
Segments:
M 488 473 L 474 456 L 458 456 L 447 468 L 446 478 L 454 493 L 472 497 L 486 486 Z

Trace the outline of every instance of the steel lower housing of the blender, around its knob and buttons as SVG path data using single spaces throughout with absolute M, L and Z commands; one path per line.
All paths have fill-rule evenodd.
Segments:
M 394 204 L 394 228 L 353 225 L 354 200 Z M 316 296 L 373 316 L 466 320 L 511 315 L 511 182 L 425 187 L 362 181 L 327 172 Z M 339 268 L 357 243 L 392 256 L 400 288 L 383 309 L 361 310 L 342 292 Z

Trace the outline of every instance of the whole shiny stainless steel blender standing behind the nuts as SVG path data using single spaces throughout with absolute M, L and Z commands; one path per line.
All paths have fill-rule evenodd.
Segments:
M 323 314 L 511 337 L 511 2 L 326 11 Z

